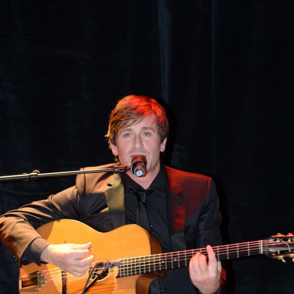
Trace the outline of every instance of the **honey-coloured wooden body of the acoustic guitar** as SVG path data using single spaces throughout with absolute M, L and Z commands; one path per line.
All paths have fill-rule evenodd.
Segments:
M 94 262 L 119 261 L 161 253 L 159 242 L 147 231 L 137 225 L 127 225 L 107 233 L 99 233 L 76 220 L 61 219 L 47 223 L 37 229 L 39 234 L 52 244 L 92 242 L 91 253 Z M 40 274 L 38 274 L 40 273 Z M 118 267 L 108 270 L 106 276 L 98 280 L 87 293 L 99 294 L 141 294 L 148 293 L 150 283 L 164 274 L 132 275 L 117 277 Z M 160 276 L 158 275 L 160 274 Z M 38 276 L 40 275 L 40 276 Z M 51 264 L 35 264 L 20 269 L 19 290 L 25 293 L 72 293 L 80 294 L 88 279 L 88 273 L 82 277 L 67 274 Z M 91 281 L 91 280 L 90 280 Z

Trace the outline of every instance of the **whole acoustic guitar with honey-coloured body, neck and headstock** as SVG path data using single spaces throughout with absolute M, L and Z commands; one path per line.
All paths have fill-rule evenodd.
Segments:
M 35 264 L 20 269 L 19 291 L 60 294 L 148 294 L 150 283 L 166 270 L 189 266 L 196 252 L 206 248 L 162 253 L 155 237 L 137 225 L 126 225 L 100 233 L 77 220 L 61 219 L 37 229 L 52 244 L 93 243 L 95 261 L 82 277 L 63 272 L 52 264 Z M 266 254 L 285 262 L 294 261 L 294 236 L 278 234 L 268 239 L 212 247 L 218 261 Z

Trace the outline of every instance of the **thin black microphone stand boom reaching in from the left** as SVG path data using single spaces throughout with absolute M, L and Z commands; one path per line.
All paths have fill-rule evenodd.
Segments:
M 112 168 L 101 168 L 101 169 L 87 169 L 87 170 L 75 170 L 75 171 L 61 171 L 51 173 L 40 173 L 39 170 L 34 170 L 31 173 L 22 173 L 16 175 L 0 176 L 0 181 L 12 181 L 12 180 L 36 180 L 41 177 L 54 177 L 54 176 L 65 176 L 65 175 L 77 175 L 80 173 L 93 173 L 93 172 L 107 172 L 123 173 L 130 169 L 130 166 L 125 165 L 114 165 Z

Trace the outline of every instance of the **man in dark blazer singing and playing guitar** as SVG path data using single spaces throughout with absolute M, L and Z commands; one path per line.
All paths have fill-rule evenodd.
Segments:
M 168 137 L 164 108 L 153 98 L 126 96 L 109 117 L 106 137 L 121 165 L 131 166 L 136 156 L 146 160 L 143 176 L 131 170 L 122 174 L 81 174 L 76 186 L 4 214 L 0 218 L 1 241 L 13 252 L 17 263 L 50 263 L 73 275 L 84 275 L 94 261 L 91 242 L 50 244 L 35 229 L 64 218 L 80 220 L 99 232 L 136 224 L 143 214 L 137 212 L 136 195 L 143 192 L 147 194 L 148 216 L 147 224 L 142 226 L 159 240 L 163 252 L 207 246 L 208 253 L 208 258 L 196 253 L 188 268 L 167 271 L 165 278 L 151 283 L 149 292 L 221 291 L 222 266 L 210 246 L 221 244 L 214 183 L 207 176 L 161 164 Z

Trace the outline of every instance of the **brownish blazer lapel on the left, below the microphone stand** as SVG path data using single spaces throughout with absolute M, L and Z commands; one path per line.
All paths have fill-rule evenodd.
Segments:
M 108 178 L 105 198 L 109 214 L 113 219 L 114 227 L 118 228 L 126 225 L 125 192 L 119 174 L 114 174 Z

